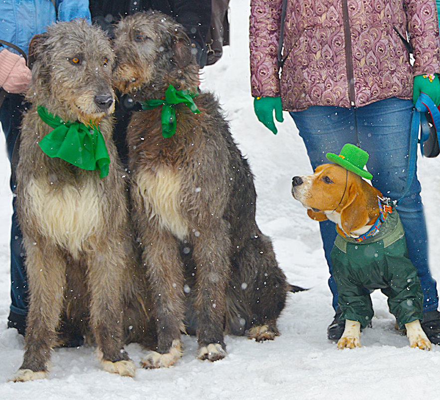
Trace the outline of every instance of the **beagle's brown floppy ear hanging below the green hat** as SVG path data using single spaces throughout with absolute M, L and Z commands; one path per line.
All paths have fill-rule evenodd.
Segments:
M 352 182 L 341 210 L 342 230 L 348 235 L 365 226 L 369 220 L 367 196 L 359 183 Z

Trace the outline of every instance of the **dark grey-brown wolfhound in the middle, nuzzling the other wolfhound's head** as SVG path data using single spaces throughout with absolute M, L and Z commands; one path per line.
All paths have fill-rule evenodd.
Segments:
M 193 93 L 200 110 L 171 105 L 175 118 L 165 125 L 175 121 L 176 132 L 168 138 L 161 106 L 134 112 L 127 129 L 132 215 L 157 318 L 157 347 L 143 366 L 174 364 L 185 331 L 210 361 L 225 357 L 224 333 L 274 339 L 290 287 L 255 222 L 248 163 L 217 99 L 198 90 L 188 36 L 155 11 L 122 19 L 115 35 L 119 90 L 144 102 L 163 99 L 172 84 Z

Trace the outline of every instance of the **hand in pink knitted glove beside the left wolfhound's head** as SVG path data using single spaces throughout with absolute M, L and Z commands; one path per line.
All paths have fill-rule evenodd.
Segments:
M 18 54 L 7 49 L 0 51 L 0 86 L 9 93 L 22 93 L 29 86 L 30 69 Z

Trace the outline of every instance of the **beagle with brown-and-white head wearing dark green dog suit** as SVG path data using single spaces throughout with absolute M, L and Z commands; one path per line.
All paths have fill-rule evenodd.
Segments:
M 381 289 L 389 297 L 390 311 L 395 314 L 398 323 L 405 326 L 410 346 L 430 350 L 431 342 L 420 324 L 423 319 L 423 294 L 417 271 L 407 257 L 399 216 L 394 207 L 382 204 L 380 191 L 340 165 L 323 164 L 312 175 L 293 177 L 292 195 L 307 209 L 313 220 L 328 219 L 336 224 L 338 236 L 332 250 L 332 267 L 338 286 L 339 307 L 345 319 L 345 330 L 338 341 L 338 348 L 361 346 L 361 328 L 367 326 L 373 317 L 369 292 Z M 384 237 L 389 233 L 392 239 Z M 379 243 L 377 238 L 380 239 L 378 250 L 371 250 L 376 242 Z M 369 251 L 362 247 L 364 244 L 369 246 Z M 399 258 L 393 254 L 393 261 L 389 261 L 392 251 L 402 254 Z M 372 260 L 364 260 L 367 253 Z M 386 272 L 378 272 L 380 268 Z M 394 274 L 389 272 L 393 268 Z M 396 276 L 404 275 L 403 271 L 409 275 L 402 277 L 402 283 L 396 282 Z M 377 278 L 376 282 L 373 277 Z M 413 297 L 404 297 L 413 290 Z

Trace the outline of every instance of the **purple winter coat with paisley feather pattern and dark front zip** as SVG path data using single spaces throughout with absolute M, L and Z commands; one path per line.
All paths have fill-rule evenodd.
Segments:
M 279 78 L 281 3 L 250 1 L 254 97 L 281 96 L 289 111 L 311 105 L 360 107 L 393 96 L 410 99 L 415 75 L 440 72 L 434 0 L 288 0 L 288 56 Z M 413 66 L 394 27 L 404 36 L 408 30 Z

